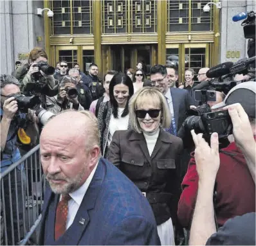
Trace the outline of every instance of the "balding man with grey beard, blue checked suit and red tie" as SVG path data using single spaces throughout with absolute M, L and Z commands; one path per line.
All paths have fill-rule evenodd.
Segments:
M 89 111 L 65 111 L 43 128 L 41 163 L 50 187 L 39 245 L 160 245 L 147 199 L 100 158 L 99 142 Z

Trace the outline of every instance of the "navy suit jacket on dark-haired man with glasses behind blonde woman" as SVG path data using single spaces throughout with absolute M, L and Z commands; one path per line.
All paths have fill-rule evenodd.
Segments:
M 194 105 L 194 100 L 190 96 L 189 92 L 185 89 L 172 87 L 170 88 L 170 93 L 172 94 L 174 118 L 178 132 L 183 121 L 185 121 L 185 119 L 187 118 L 187 110 L 190 109 L 190 105 Z

